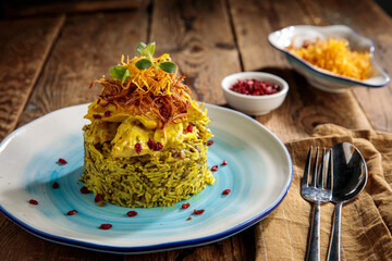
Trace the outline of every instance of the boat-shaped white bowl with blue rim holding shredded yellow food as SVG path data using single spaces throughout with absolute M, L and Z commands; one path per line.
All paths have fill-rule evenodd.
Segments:
M 302 47 L 305 40 L 315 41 L 328 37 L 344 38 L 348 41 L 350 47 L 355 51 L 368 51 L 371 54 L 371 62 L 373 66 L 373 75 L 371 78 L 365 80 L 357 80 L 345 76 L 333 74 L 329 71 L 319 69 L 311 63 L 292 54 L 286 47 L 293 44 L 294 47 Z M 369 87 L 378 88 L 385 86 L 390 82 L 390 77 L 383 72 L 373 59 L 375 45 L 373 42 L 355 33 L 352 28 L 345 25 L 332 26 L 311 26 L 311 25 L 295 25 L 289 26 L 280 30 L 275 30 L 268 36 L 269 42 L 282 51 L 293 67 L 303 74 L 309 84 L 314 87 L 328 92 L 343 92 L 351 87 Z

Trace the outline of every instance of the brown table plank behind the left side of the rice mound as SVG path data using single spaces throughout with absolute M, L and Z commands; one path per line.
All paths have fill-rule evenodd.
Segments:
M 137 44 L 147 39 L 147 26 L 146 10 L 70 16 L 19 125 L 95 100 L 100 89 L 89 90 L 89 83 L 109 75 L 122 54 L 135 55 Z

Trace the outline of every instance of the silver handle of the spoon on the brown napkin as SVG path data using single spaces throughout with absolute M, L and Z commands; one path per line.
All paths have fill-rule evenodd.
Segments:
M 333 214 L 333 224 L 332 224 L 332 234 L 330 239 L 330 247 L 328 250 L 328 261 L 335 261 L 340 259 L 340 225 L 342 216 L 342 206 L 343 202 L 338 202 L 335 204 L 334 214 Z

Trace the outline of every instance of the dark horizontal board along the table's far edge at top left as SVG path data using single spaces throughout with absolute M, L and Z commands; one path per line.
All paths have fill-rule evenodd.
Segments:
M 2 11 L 5 18 L 23 16 L 70 14 L 70 13 L 93 13 L 100 11 L 125 11 L 133 9 L 144 9 L 149 1 L 144 0 L 113 0 L 113 1 L 54 1 L 54 2 L 34 2 L 13 1 L 3 3 Z

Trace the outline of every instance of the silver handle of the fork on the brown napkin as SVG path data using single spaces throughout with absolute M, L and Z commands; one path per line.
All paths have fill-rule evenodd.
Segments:
M 307 250 L 307 261 L 320 260 L 320 202 L 314 203 L 314 216 L 311 220 L 310 238 Z

